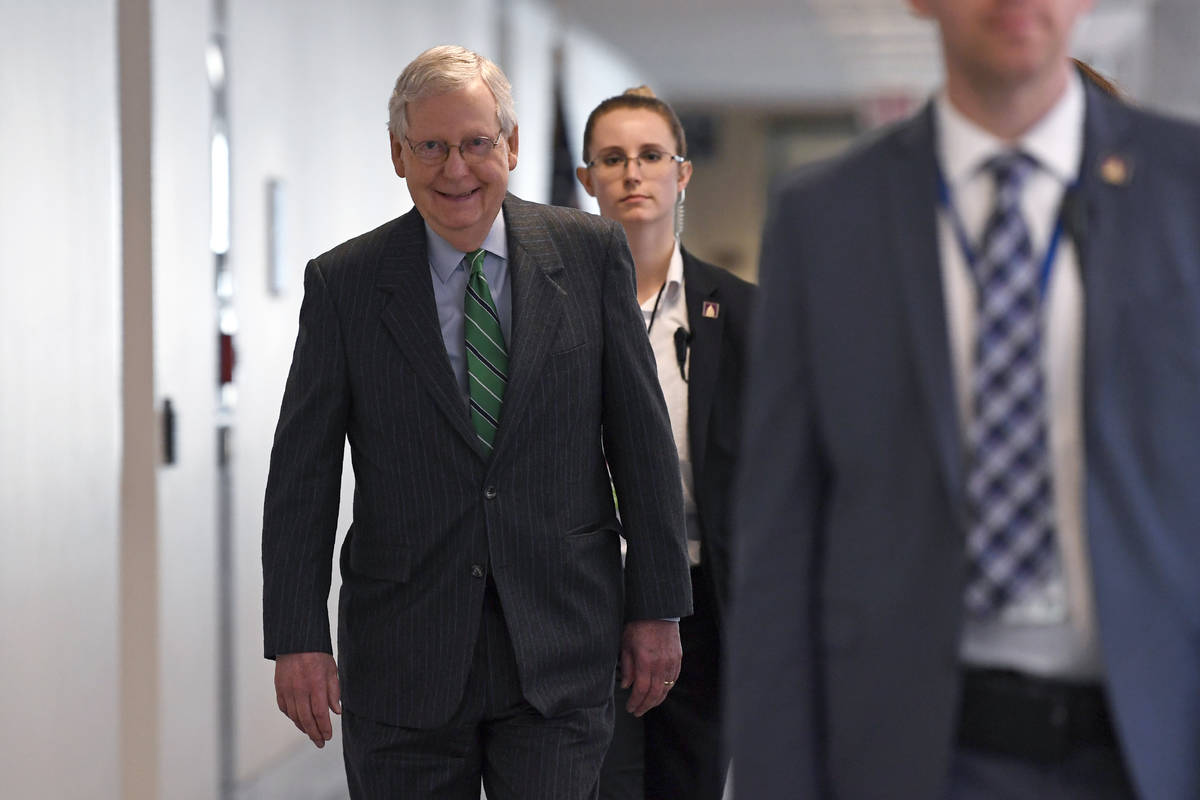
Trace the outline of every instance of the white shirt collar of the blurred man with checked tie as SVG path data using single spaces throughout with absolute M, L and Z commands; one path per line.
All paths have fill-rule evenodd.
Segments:
M 1063 184 L 1079 178 L 1084 155 L 1084 84 L 1074 70 L 1058 102 L 1020 138 L 1016 146 Z M 934 101 L 938 157 L 952 186 L 970 180 L 992 156 L 1010 146 L 964 116 L 943 89 Z

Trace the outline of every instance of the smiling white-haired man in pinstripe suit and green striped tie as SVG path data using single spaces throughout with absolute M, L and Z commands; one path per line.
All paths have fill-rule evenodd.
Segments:
M 475 800 L 480 780 L 492 800 L 593 798 L 613 663 L 635 676 L 631 710 L 653 708 L 679 673 L 673 620 L 690 613 L 677 457 L 629 251 L 613 223 L 506 193 L 517 125 L 487 59 L 422 53 L 389 113 L 416 207 L 308 264 L 271 453 L 280 709 L 322 746 L 344 705 L 355 798 Z

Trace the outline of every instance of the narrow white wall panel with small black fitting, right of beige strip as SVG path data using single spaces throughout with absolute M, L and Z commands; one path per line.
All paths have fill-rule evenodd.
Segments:
M 218 793 L 216 302 L 209 252 L 205 73 L 210 0 L 152 6 L 152 216 L 156 405 L 176 415 L 175 463 L 160 464 L 158 796 Z M 252 571 L 253 565 L 245 569 Z

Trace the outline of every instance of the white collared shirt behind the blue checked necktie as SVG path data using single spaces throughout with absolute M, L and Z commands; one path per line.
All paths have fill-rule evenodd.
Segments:
M 1016 143 L 1038 163 L 1021 192 L 1021 211 L 1039 259 L 1049 247 L 1063 194 L 1079 176 L 1084 104 L 1082 82 L 1072 71 L 1063 96 Z M 982 167 L 1012 145 L 967 120 L 944 91 L 935 100 L 934 108 L 938 163 L 965 233 L 971 242 L 978 242 L 995 197 L 991 175 Z M 962 441 L 966 441 L 972 416 L 976 289 L 952 217 L 944 207 L 938 215 L 938 229 L 955 395 Z M 1067 235 L 1060 239 L 1051 264 L 1042 313 L 1042 359 L 1060 559 L 1044 584 L 1004 609 L 997 621 L 979 622 L 967 618 L 962 658 L 977 666 L 1090 679 L 1099 676 L 1100 662 L 1084 517 L 1084 287 L 1074 242 Z

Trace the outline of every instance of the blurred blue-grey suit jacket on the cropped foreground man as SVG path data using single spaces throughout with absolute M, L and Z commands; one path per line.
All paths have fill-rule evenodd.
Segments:
M 787 185 L 767 225 L 733 591 L 738 796 L 941 796 L 966 509 L 934 152 L 926 109 Z M 1200 133 L 1088 88 L 1072 216 L 1109 696 L 1140 793 L 1196 798 Z

